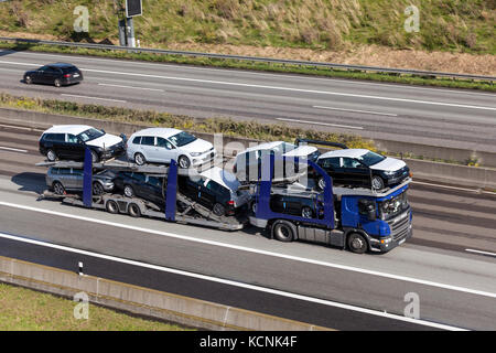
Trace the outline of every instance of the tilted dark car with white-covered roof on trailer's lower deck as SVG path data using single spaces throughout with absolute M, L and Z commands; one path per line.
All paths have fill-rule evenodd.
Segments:
M 236 176 L 218 167 L 200 174 L 180 175 L 179 190 L 193 201 L 208 207 L 217 216 L 238 214 L 249 207 L 251 200 L 246 190 L 239 190 Z

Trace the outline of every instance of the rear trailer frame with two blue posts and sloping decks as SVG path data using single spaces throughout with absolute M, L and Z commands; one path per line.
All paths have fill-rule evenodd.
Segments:
M 62 200 L 65 204 L 104 210 L 112 214 L 128 214 L 132 217 L 148 216 L 158 220 L 193 224 L 219 228 L 223 231 L 239 231 L 248 223 L 246 215 L 218 216 L 212 210 L 183 195 L 177 189 L 177 175 L 194 175 L 195 170 L 183 170 L 173 160 L 169 167 L 164 165 L 138 165 L 122 161 L 107 161 L 93 163 L 90 154 L 86 151 L 84 162 L 57 161 L 42 162 L 37 167 L 57 167 L 83 169 L 83 193 L 58 195 L 44 191 L 40 199 Z M 164 210 L 157 204 L 140 197 L 127 197 L 117 193 L 93 195 L 93 172 L 96 170 L 131 171 L 163 178 Z

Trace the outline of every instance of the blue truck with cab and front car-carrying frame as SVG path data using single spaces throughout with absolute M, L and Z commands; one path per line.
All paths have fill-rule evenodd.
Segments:
M 412 213 L 407 199 L 411 179 L 379 192 L 362 188 L 333 188 L 332 178 L 309 160 L 305 161 L 308 167 L 324 179 L 322 191 L 304 185 L 272 185 L 274 158 L 267 158 L 262 178 L 254 190 L 255 206 L 249 222 L 266 229 L 270 238 L 321 243 L 362 254 L 367 250 L 389 252 L 412 236 Z M 270 202 L 278 194 L 315 197 L 315 216 L 274 212 Z

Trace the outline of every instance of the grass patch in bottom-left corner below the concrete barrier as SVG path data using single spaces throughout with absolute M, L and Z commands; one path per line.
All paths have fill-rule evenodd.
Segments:
M 88 319 L 75 319 L 77 302 L 0 282 L 0 331 L 185 331 L 89 303 Z

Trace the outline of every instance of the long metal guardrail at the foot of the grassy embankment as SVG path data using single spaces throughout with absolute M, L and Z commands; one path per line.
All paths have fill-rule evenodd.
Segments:
M 375 72 L 375 73 L 384 73 L 384 74 L 416 75 L 416 76 L 427 76 L 427 77 L 433 77 L 433 78 L 450 77 L 450 78 L 459 78 L 459 79 L 487 81 L 487 82 L 490 82 L 492 84 L 496 81 L 495 76 L 479 76 L 479 75 L 441 73 L 441 72 L 421 71 L 421 69 L 391 68 L 391 67 L 378 67 L 378 66 L 345 65 L 345 64 L 311 62 L 311 61 L 259 57 L 259 56 L 241 56 L 241 55 L 228 55 L 228 54 L 216 54 L 216 53 L 170 51 L 170 50 L 150 49 L 150 47 L 129 47 L 129 46 L 119 46 L 119 45 L 109 45 L 109 44 L 56 42 L 56 41 L 30 40 L 30 39 L 19 39 L 19 38 L 8 38 L 8 36 L 0 36 L 0 41 L 17 42 L 17 43 L 20 42 L 20 43 L 29 43 L 29 44 L 42 44 L 42 45 L 73 46 L 73 47 L 96 49 L 96 50 L 142 52 L 142 53 L 154 53 L 154 54 L 165 54 L 165 55 L 183 55 L 183 56 L 200 56 L 200 57 L 208 57 L 208 58 L 238 60 L 238 61 L 261 62 L 261 63 L 272 63 L 272 64 L 282 64 L 282 65 L 324 67 L 324 68 L 330 68 L 330 69 L 337 68 L 337 69 L 345 69 L 345 71 Z

